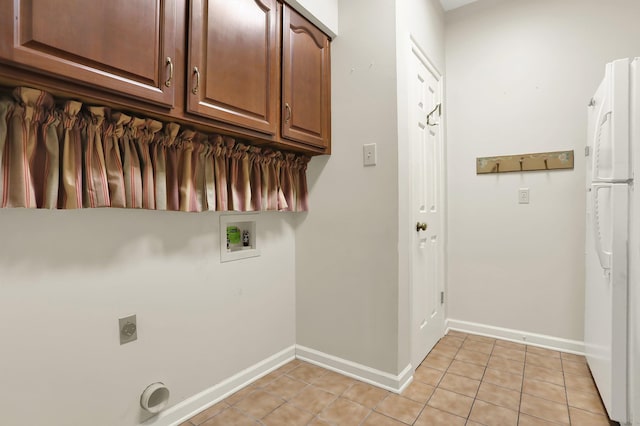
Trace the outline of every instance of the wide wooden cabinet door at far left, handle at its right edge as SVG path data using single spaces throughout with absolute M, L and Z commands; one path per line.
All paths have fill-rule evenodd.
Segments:
M 0 60 L 173 106 L 176 0 L 0 0 Z

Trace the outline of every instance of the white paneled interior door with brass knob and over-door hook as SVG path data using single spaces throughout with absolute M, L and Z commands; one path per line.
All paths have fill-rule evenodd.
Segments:
M 412 164 L 412 364 L 444 332 L 444 155 L 440 74 L 413 48 L 409 81 Z

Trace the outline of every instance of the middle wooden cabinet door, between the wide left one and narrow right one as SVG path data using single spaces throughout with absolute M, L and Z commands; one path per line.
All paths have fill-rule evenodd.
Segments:
M 276 0 L 192 0 L 189 112 L 277 131 Z

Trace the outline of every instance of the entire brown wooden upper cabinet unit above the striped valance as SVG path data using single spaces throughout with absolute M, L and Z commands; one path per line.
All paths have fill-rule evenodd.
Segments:
M 329 38 L 282 0 L 0 0 L 7 78 L 330 152 Z

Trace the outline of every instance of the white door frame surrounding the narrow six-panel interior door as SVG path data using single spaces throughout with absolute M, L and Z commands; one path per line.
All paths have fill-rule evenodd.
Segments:
M 440 223 L 441 223 L 441 230 L 440 230 L 440 235 L 442 238 L 442 291 L 444 291 L 444 302 L 443 306 L 442 306 L 442 310 L 443 310 L 443 317 L 442 317 L 442 334 L 444 335 L 445 331 L 446 331 L 446 312 L 447 312 L 447 292 L 446 292 L 446 282 L 447 282 L 447 173 L 446 173 L 446 145 L 445 145 L 445 107 L 444 107 L 444 76 L 442 75 L 442 73 L 438 70 L 438 68 L 434 65 L 434 63 L 429 59 L 428 55 L 424 52 L 423 49 L 420 48 L 420 46 L 418 45 L 418 43 L 416 42 L 416 40 L 413 37 L 410 37 L 410 49 L 409 49 L 409 61 L 413 61 L 415 57 L 416 59 L 420 60 L 422 62 L 422 64 L 425 66 L 425 68 L 427 69 L 428 72 L 430 72 L 437 80 L 438 82 L 438 91 L 440 92 L 440 102 L 442 104 L 441 106 L 441 112 L 440 112 L 440 131 L 438 132 L 438 139 L 439 139 L 439 144 L 440 144 L 440 151 L 439 151 L 439 158 L 438 158 L 438 162 L 441 165 L 440 169 L 439 169 L 439 174 L 440 174 L 440 182 L 441 182 L 441 187 L 439 188 L 439 194 L 440 194 Z M 409 65 L 407 67 L 407 77 L 408 80 L 407 81 L 411 81 L 411 72 L 413 69 L 413 65 Z M 408 86 L 407 87 L 407 103 L 409 104 L 408 107 L 411 108 L 410 102 L 411 102 L 411 87 L 412 86 Z M 408 118 L 408 128 L 407 131 L 409 132 L 408 135 L 411 134 L 412 130 L 413 130 L 413 125 L 415 123 L 412 122 L 411 120 L 411 116 L 409 116 Z M 413 147 L 411 146 L 411 143 L 409 142 L 409 156 L 411 157 L 413 154 Z M 409 162 L 409 198 L 408 198 L 408 203 L 409 203 L 409 215 L 408 218 L 409 219 L 413 219 L 413 206 L 414 206 L 414 183 L 413 183 L 413 167 L 412 167 L 412 163 Z M 409 226 L 409 224 L 405 224 L 404 226 Z M 415 345 L 415 340 L 416 340 L 416 329 L 415 329 L 415 324 L 413 323 L 413 296 L 415 294 L 414 292 L 414 281 L 413 281 L 413 266 L 414 266 L 414 257 L 413 257 L 413 237 L 409 238 L 408 241 L 408 249 L 409 249 L 409 356 L 410 356 L 410 361 L 411 364 L 413 366 L 413 368 L 417 368 L 418 365 L 420 365 L 420 362 L 422 361 L 414 359 L 415 358 L 415 352 L 414 352 L 414 345 Z

